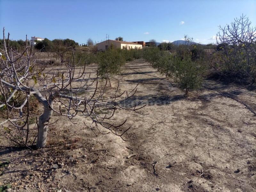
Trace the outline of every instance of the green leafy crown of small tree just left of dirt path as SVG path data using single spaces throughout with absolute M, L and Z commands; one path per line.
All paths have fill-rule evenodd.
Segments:
M 99 75 L 104 78 L 118 74 L 126 61 L 121 49 L 108 49 L 105 52 L 98 52 L 96 56 Z

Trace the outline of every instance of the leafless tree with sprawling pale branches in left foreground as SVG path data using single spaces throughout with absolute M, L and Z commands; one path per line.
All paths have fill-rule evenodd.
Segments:
M 73 117 L 80 113 L 85 118 L 92 120 L 90 125 L 85 124 L 86 127 L 102 134 L 112 132 L 123 139 L 124 133 L 130 127 L 125 127 L 126 120 L 119 124 L 112 123 L 116 110 L 125 109 L 140 113 L 138 110 L 144 107 L 137 107 L 135 104 L 129 108 L 124 108 L 116 100 L 122 95 L 126 95 L 126 99 L 133 97 L 138 85 L 131 92 L 119 93 L 118 83 L 112 96 L 104 95 L 107 81 L 105 85 L 100 86 L 98 73 L 95 80 L 91 80 L 90 75 L 86 78 L 85 65 L 76 68 L 73 49 L 72 56 L 65 62 L 65 65 L 57 68 L 42 66 L 37 63 L 32 48 L 28 46 L 27 39 L 26 49 L 21 53 L 16 52 L 9 45 L 9 34 L 7 40 L 3 36 L 3 41 L 4 49 L 1 52 L 4 53 L 4 57 L 0 59 L 0 91 L 2 96 L 0 108 L 6 112 L 6 118 L 0 122 L 0 125 L 9 124 L 9 126 L 16 127 L 20 136 L 0 134 L 19 145 L 28 146 L 29 105 L 32 96 L 42 103 L 44 109 L 38 120 L 36 141 L 38 148 L 46 145 L 48 126 L 53 112 L 67 116 L 71 122 Z M 79 97 L 79 90 L 90 90 L 88 88 L 92 85 L 94 85 L 94 91 L 84 91 L 82 92 L 83 96 Z M 20 97 L 20 104 L 16 105 L 13 100 L 17 98 L 18 93 L 22 96 Z M 24 107 L 26 111 L 24 111 Z M 1 119 L 3 118 L 1 117 Z M 26 126 L 27 129 L 24 128 Z M 24 139 L 25 137 L 26 139 Z

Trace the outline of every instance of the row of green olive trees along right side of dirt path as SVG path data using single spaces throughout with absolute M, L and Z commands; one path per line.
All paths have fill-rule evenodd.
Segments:
M 192 40 L 187 36 L 185 39 L 188 43 Z M 175 48 L 175 54 L 160 50 L 158 47 L 147 48 L 143 50 L 143 57 L 166 78 L 173 77 L 180 89 L 185 89 L 187 96 L 190 90 L 201 87 L 205 67 L 201 58 L 193 57 L 193 44 Z

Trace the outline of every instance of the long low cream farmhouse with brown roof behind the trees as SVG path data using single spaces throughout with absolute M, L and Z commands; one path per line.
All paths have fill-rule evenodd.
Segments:
M 98 51 L 105 51 L 106 49 L 114 46 L 119 49 L 142 49 L 142 45 L 127 41 L 116 41 L 116 40 L 106 40 L 97 44 Z

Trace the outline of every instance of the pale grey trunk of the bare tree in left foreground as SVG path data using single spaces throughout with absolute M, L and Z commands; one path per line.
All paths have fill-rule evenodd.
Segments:
M 48 123 L 52 117 L 53 98 L 49 98 L 48 102 L 44 101 L 44 113 L 39 117 L 38 121 L 38 136 L 36 140 L 36 147 L 42 148 L 46 145 L 46 138 L 48 133 Z

